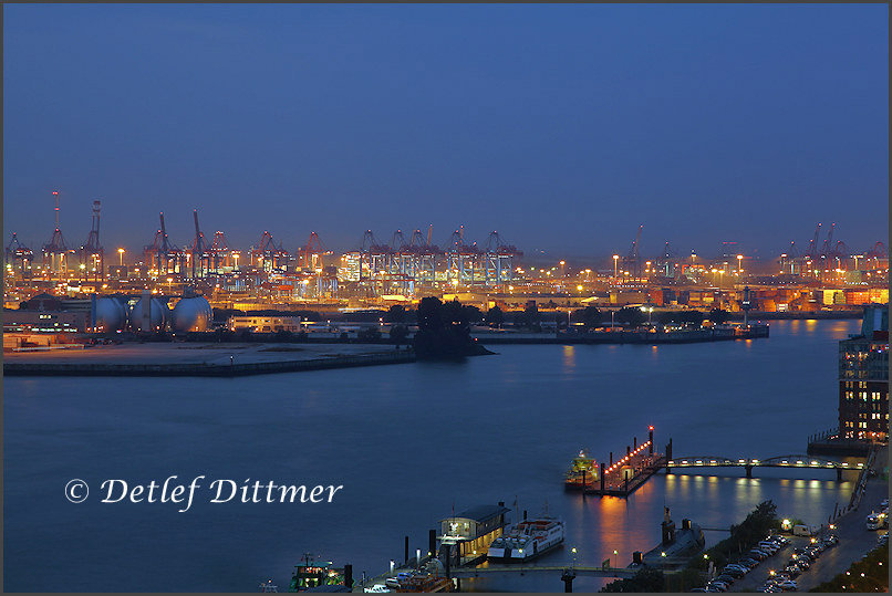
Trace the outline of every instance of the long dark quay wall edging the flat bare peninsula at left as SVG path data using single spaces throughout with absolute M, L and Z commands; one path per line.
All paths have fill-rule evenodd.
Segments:
M 272 373 L 297 373 L 403 364 L 416 360 L 411 351 L 394 351 L 378 354 L 333 355 L 325 358 L 291 359 L 252 363 L 3 363 L 3 374 L 10 376 L 135 376 L 135 377 L 240 377 Z

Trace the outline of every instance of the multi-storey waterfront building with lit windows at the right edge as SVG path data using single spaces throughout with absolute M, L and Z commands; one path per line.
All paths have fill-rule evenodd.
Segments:
M 839 343 L 839 432 L 889 441 L 889 306 L 868 306 L 861 333 Z

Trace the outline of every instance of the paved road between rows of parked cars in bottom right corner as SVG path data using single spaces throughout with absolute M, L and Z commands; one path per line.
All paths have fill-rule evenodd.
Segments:
M 873 468 L 878 471 L 886 466 L 888 448 L 878 453 Z M 812 587 L 831 579 L 837 574 L 846 571 L 849 566 L 860 560 L 868 551 L 877 546 L 877 539 L 885 530 L 868 531 L 864 527 L 864 517 L 877 510 L 880 501 L 889 499 L 889 484 L 882 477 L 878 475 L 868 480 L 864 494 L 857 509 L 838 517 L 833 524 L 834 532 L 839 536 L 839 544 L 827 548 L 820 554 L 818 560 L 796 578 L 799 592 L 807 592 Z M 848 504 L 848 503 L 846 503 Z M 795 536 L 785 548 L 778 551 L 774 556 L 764 561 L 759 566 L 749 572 L 745 577 L 735 582 L 733 592 L 747 589 L 758 589 L 769 577 L 770 569 L 780 569 L 786 566 L 794 548 L 805 546 L 809 540 Z

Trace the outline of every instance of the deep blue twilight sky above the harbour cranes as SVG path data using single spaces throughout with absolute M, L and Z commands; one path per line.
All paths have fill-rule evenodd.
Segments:
M 889 9 L 3 7 L 3 244 L 326 248 L 434 226 L 528 254 L 764 258 L 889 237 Z M 132 252 L 132 253 L 133 253 Z

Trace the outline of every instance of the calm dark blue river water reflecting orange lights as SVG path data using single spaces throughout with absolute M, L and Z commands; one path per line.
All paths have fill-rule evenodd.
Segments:
M 599 565 L 660 539 L 663 505 L 705 527 L 761 500 L 827 521 L 850 481 L 663 475 L 629 500 L 563 492 L 582 447 L 599 459 L 656 427 L 675 456 L 803 453 L 837 414 L 837 342 L 854 321 L 771 323 L 771 337 L 676 346 L 498 346 L 464 364 L 417 364 L 236 379 L 8 378 L 4 389 L 6 590 L 284 589 L 305 552 L 355 575 L 380 573 L 455 508 L 515 499 L 568 522 L 543 560 Z M 177 474 L 344 484 L 331 504 L 101 504 L 107 478 Z M 87 481 L 90 499 L 63 489 Z M 707 532 L 709 542 L 724 536 Z M 602 581 L 575 582 L 578 590 Z M 471 585 L 468 585 L 471 584 Z M 557 577 L 467 582 L 554 590 Z

